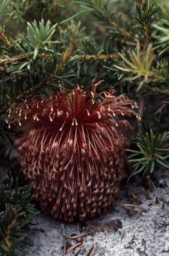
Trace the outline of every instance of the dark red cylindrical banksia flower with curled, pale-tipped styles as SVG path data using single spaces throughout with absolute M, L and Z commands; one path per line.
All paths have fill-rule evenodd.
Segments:
M 77 87 L 69 94 L 35 95 L 9 109 L 9 125 L 22 137 L 15 140 L 23 173 L 41 209 L 53 217 L 73 221 L 105 213 L 114 204 L 122 179 L 126 142 L 120 115 L 137 115 L 134 101 L 96 94 Z M 12 120 L 11 120 L 12 119 Z

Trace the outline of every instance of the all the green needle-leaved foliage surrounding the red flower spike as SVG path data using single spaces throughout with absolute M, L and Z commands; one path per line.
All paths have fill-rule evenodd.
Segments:
M 146 113 L 147 124 L 142 123 L 139 134 L 139 124 L 132 121 L 131 131 L 136 132 L 129 139 L 135 147 L 128 149 L 128 163 L 134 163 L 130 177 L 137 173 L 150 175 L 158 165 L 168 169 L 168 1 L 13 0 L 8 3 L 0 1 L 1 147 L 12 141 L 13 127 L 7 123 L 9 106 L 13 107 L 17 101 L 25 102 L 35 94 L 51 95 L 59 87 L 71 91 L 77 83 L 90 91 L 91 81 L 97 75 L 97 81 L 104 80 L 98 92 L 114 87 L 116 95 L 126 93 L 136 101 L 142 119 Z M 6 155 L 2 157 L 7 162 Z M 10 237 L 16 235 L 8 243 L 14 248 L 24 237 L 22 221 L 26 223 L 28 215 L 33 216 L 29 212 L 33 208 L 29 208 L 32 206 L 27 187 L 19 185 L 14 194 L 9 187 L 2 179 L 1 230 L 3 237 L 4 232 L 9 232 Z M 27 198 L 25 206 L 14 203 L 23 202 L 22 195 Z M 7 253 L 7 244 L 3 243 L 2 248 Z

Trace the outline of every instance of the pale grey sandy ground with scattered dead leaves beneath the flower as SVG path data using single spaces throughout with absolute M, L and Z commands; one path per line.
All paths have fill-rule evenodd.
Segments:
M 27 256 L 65 255 L 65 243 L 66 249 L 79 245 L 67 253 L 69 256 L 169 255 L 169 177 L 164 177 L 162 171 L 156 171 L 154 184 L 157 189 L 154 188 L 153 192 L 146 188 L 148 195 L 138 195 L 142 201 L 139 204 L 133 201 L 132 194 L 142 191 L 142 183 L 138 178 L 132 179 L 122 186 L 114 208 L 105 215 L 88 220 L 86 226 L 81 223 L 61 223 L 50 216 L 38 215 L 33 219 L 33 223 L 38 225 L 31 226 L 31 233 L 27 237 L 32 246 L 23 246 Z M 125 203 L 139 205 L 146 211 L 137 208 L 132 208 L 137 213 L 126 211 L 119 206 Z M 66 237 L 71 237 L 88 231 L 91 234 L 77 239 L 63 239 L 63 232 Z

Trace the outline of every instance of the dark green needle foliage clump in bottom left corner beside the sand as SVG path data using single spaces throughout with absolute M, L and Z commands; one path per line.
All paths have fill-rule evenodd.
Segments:
M 22 252 L 19 245 L 29 234 L 28 225 L 37 210 L 31 205 L 31 189 L 23 185 L 19 177 L 15 183 L 0 179 L 0 255 L 15 256 L 15 249 Z

